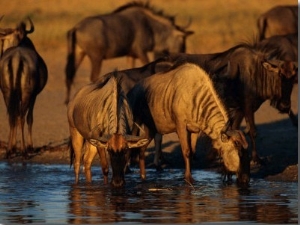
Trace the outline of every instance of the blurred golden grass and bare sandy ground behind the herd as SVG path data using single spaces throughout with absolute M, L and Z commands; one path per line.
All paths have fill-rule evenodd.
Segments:
M 69 136 L 66 117 L 65 64 L 66 33 L 84 17 L 106 14 L 130 1 L 125 0 L 0 0 L 0 15 L 4 15 L 0 27 L 15 27 L 26 17 L 35 25 L 29 37 L 46 61 L 49 70 L 48 83 L 37 97 L 34 110 L 34 146 L 59 143 Z M 177 24 L 184 26 L 191 21 L 190 30 L 195 33 L 187 39 L 187 53 L 214 53 L 225 51 L 241 42 L 251 42 L 257 36 L 257 18 L 277 5 L 297 4 L 295 0 L 152 0 L 150 5 L 166 15 L 175 16 Z M 137 60 L 137 66 L 140 66 Z M 129 67 L 125 57 L 104 60 L 101 74 L 114 69 Z M 90 64 L 87 58 L 75 76 L 72 95 L 89 83 Z M 297 93 L 296 87 L 296 93 Z M 297 112 L 297 94 L 293 95 Z M 264 108 L 265 107 L 265 108 Z M 262 106 L 256 113 L 257 122 L 281 120 L 286 115 L 269 106 Z M 262 111 L 263 112 L 263 111 Z M 3 98 L 0 97 L 0 140 L 7 141 L 8 123 Z

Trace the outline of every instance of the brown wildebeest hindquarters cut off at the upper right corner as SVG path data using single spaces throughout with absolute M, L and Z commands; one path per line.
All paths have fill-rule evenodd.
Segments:
M 276 6 L 257 21 L 259 39 L 298 33 L 298 6 Z

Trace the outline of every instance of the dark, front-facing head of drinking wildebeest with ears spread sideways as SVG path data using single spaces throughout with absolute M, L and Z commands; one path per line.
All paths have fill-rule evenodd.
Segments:
M 114 187 L 121 187 L 125 184 L 125 167 L 128 157 L 128 151 L 131 148 L 140 148 L 148 143 L 148 139 L 133 136 L 113 134 L 110 136 L 102 136 L 98 139 L 90 139 L 91 144 L 106 149 L 112 167 L 111 184 Z

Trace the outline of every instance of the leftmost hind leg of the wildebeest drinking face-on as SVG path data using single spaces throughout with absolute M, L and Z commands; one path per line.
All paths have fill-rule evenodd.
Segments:
M 70 127 L 70 136 L 71 136 L 72 148 L 75 154 L 75 160 L 73 164 L 74 164 L 74 173 L 75 173 L 75 183 L 77 184 L 79 181 L 81 149 L 83 146 L 84 138 L 74 127 Z

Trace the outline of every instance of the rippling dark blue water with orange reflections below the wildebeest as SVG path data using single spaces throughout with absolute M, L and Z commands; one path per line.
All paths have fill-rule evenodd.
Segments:
M 195 170 L 190 186 L 180 169 L 138 170 L 121 189 L 103 185 L 100 168 L 93 183 L 81 175 L 73 185 L 67 165 L 0 163 L 0 224 L 122 223 L 298 223 L 298 183 L 251 180 L 248 189 L 224 185 L 215 172 Z

